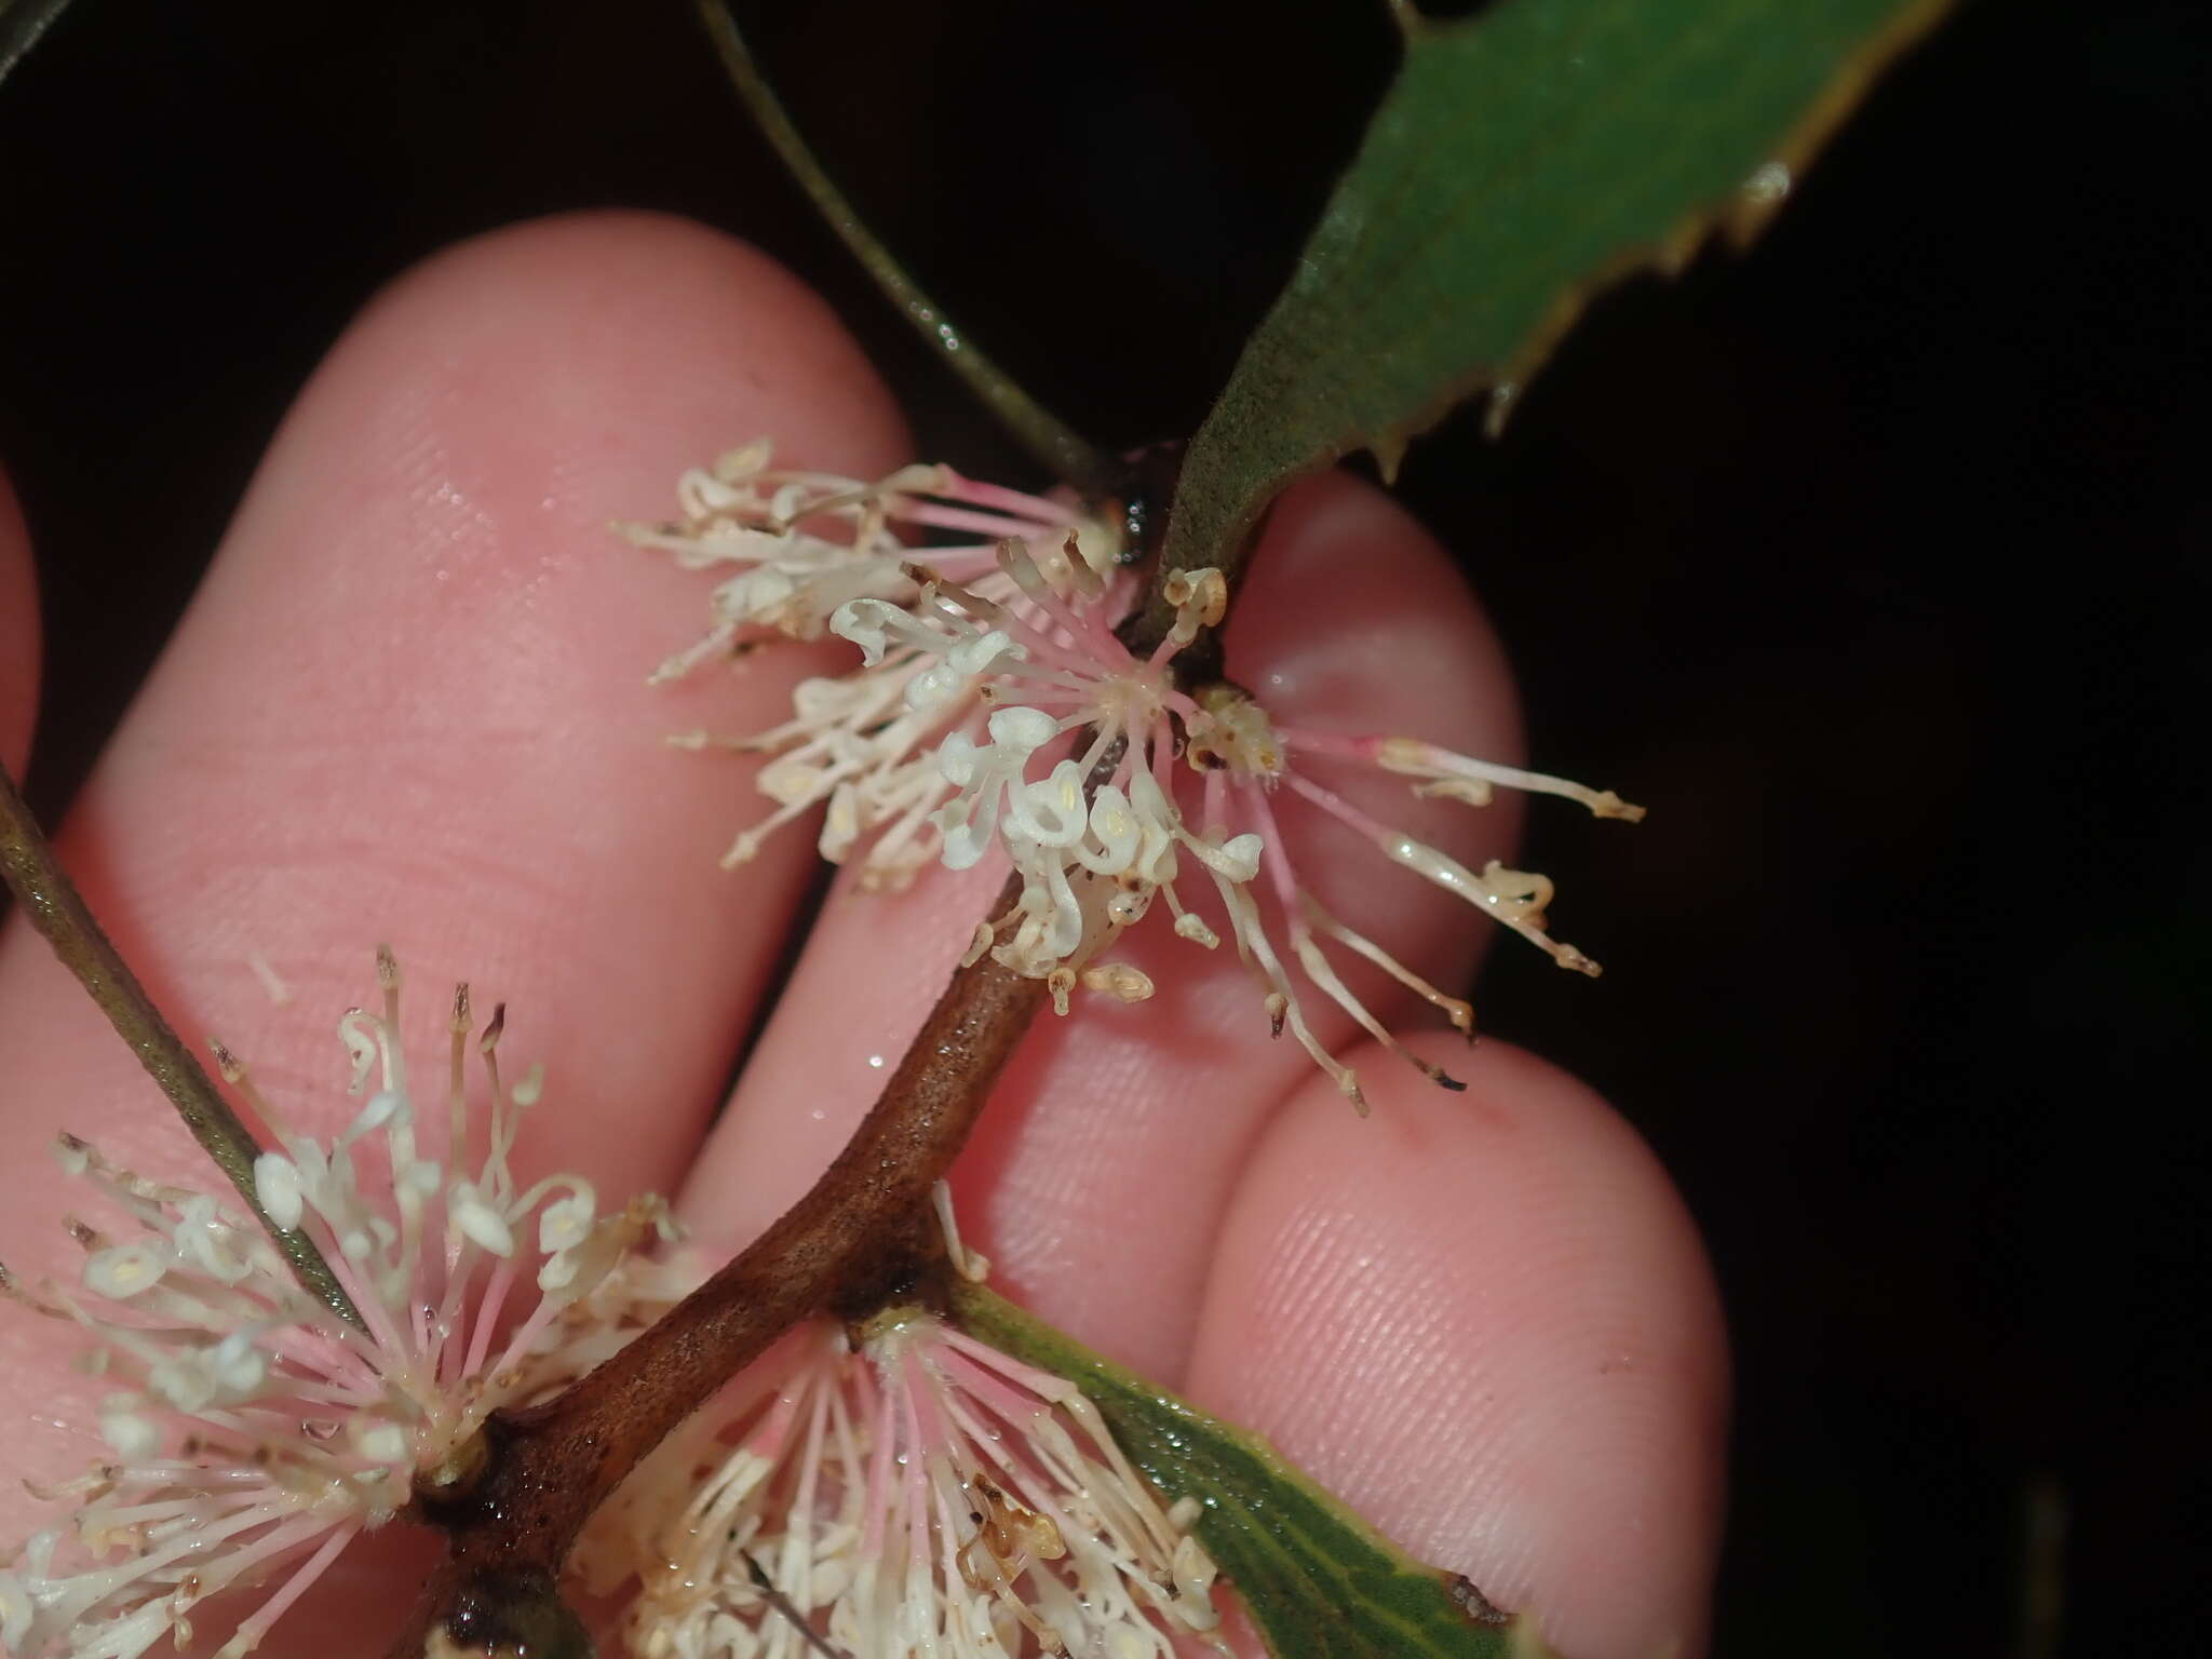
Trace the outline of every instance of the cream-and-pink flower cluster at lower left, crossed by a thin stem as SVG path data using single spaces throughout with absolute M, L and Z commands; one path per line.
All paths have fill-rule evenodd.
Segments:
M 460 1478 L 491 1411 L 591 1369 L 675 1294 L 637 1254 L 668 1230 L 659 1199 L 599 1214 L 582 1177 L 515 1181 L 509 1155 L 540 1084 L 500 1079 L 504 1009 L 476 1042 L 491 1113 L 482 1152 L 469 1152 L 467 987 L 434 1133 L 445 1161 L 425 1157 L 389 951 L 378 980 L 380 1011 L 338 1022 L 365 1104 L 330 1144 L 288 1130 L 217 1048 L 281 1139 L 254 1168 L 261 1208 L 314 1243 L 358 1325 L 299 1285 L 257 1221 L 62 1137 L 64 1168 L 119 1232 L 71 1223 L 77 1285 L 33 1290 L 0 1270 L 0 1290 L 95 1336 L 93 1369 L 115 1383 L 100 1409 L 111 1455 L 38 1491 L 75 1504 L 71 1520 L 0 1555 L 9 1655 L 135 1659 L 164 1637 L 184 1648 L 199 1601 L 281 1573 L 219 1659 L 250 1652 L 356 1535 Z

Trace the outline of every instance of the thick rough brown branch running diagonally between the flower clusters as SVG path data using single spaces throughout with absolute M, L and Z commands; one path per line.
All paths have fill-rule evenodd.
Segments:
M 1018 894 L 1015 878 L 1000 909 Z M 555 1579 L 624 1475 L 776 1336 L 825 1307 L 872 1307 L 914 1276 L 933 1250 L 929 1190 L 1044 995 L 1044 980 L 989 956 L 956 971 L 883 1097 L 799 1203 L 566 1394 L 491 1420 L 482 1484 L 429 1513 L 451 1551 L 392 1655 L 420 1655 L 471 1586 Z

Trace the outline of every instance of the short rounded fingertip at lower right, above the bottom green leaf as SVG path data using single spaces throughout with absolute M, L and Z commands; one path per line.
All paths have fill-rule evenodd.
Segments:
M 1694 1228 L 1553 1066 L 1489 1042 L 1467 1077 L 1391 1075 L 1367 1121 L 1310 1084 L 1270 1119 L 1188 1391 L 1559 1652 L 1694 1655 L 1728 1413 Z

